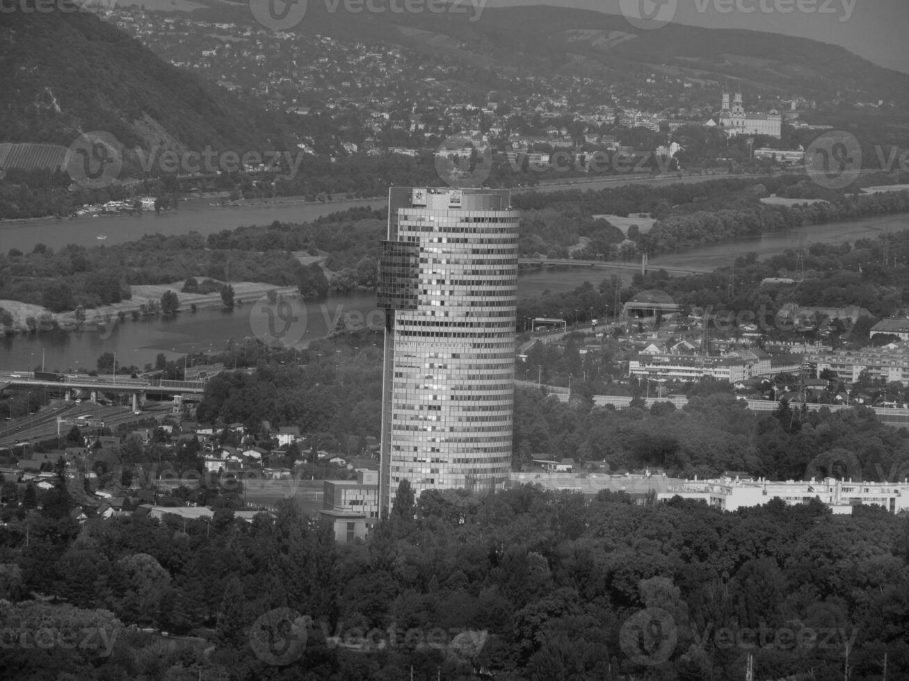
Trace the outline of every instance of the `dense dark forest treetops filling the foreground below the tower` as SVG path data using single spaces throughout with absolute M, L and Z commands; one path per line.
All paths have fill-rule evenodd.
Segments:
M 881 508 L 403 484 L 339 546 L 293 499 L 251 523 L 80 526 L 70 503 L 58 483 L 0 528 L 5 677 L 726 681 L 749 656 L 758 678 L 909 675 L 909 524 Z

